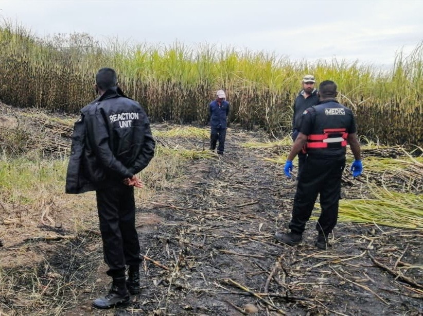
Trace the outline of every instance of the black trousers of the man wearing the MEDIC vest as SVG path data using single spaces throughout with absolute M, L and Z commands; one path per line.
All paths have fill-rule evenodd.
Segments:
M 302 234 L 311 216 L 314 203 L 320 194 L 320 214 L 316 230 L 327 236 L 338 220 L 341 194 L 341 177 L 345 168 L 345 156 L 325 159 L 308 155 L 298 180 L 289 228 Z

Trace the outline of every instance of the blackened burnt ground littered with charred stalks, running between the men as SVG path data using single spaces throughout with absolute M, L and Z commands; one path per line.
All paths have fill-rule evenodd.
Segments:
M 297 247 L 275 241 L 276 231 L 287 231 L 295 190 L 286 186 L 288 180 L 282 166 L 262 158 L 289 147 L 245 149 L 239 145 L 244 140 L 244 132 L 228 133 L 227 151 L 222 157 L 187 163 L 184 177 L 175 179 L 154 202 L 137 210 L 143 289 L 141 294 L 132 296 L 130 306 L 107 311 L 91 307 L 92 299 L 107 293 L 110 282 L 104 273 L 107 267 L 102 262 L 101 239 L 94 231 L 73 239 L 26 241 L 28 250 L 44 253 L 44 261 L 36 268 L 24 266 L 6 269 L 5 273 L 20 278 L 20 288 L 15 290 L 28 291 L 34 279 L 25 279 L 22 272 L 34 269 L 38 282 L 45 285 L 42 293 L 45 298 L 31 309 L 19 306 L 19 301 L 5 295 L 0 297 L 4 312 L 36 314 L 49 310 L 49 314 L 65 315 L 423 312 L 421 230 L 338 223 L 330 236 L 332 247 L 322 251 L 313 245 L 314 217 Z M 186 147 L 204 146 L 201 141 L 180 142 Z M 354 198 L 356 194 L 365 196 L 363 182 L 344 181 L 343 198 Z M 318 215 L 316 210 L 313 216 Z M 66 236 L 63 229 L 60 231 Z

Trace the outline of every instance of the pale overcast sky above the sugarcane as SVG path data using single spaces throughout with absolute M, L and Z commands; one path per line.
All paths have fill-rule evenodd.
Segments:
M 0 0 L 3 19 L 39 36 L 90 33 L 132 43 L 216 44 L 291 60 L 390 66 L 423 40 L 421 0 Z

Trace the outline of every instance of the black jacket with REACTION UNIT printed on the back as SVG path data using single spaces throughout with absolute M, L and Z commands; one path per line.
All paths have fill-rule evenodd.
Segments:
M 118 87 L 81 110 L 72 135 L 66 193 L 105 189 L 143 170 L 154 155 L 150 123 Z

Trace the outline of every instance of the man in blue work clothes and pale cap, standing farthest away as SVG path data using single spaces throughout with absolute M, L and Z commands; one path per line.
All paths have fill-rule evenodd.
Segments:
M 217 153 L 223 155 L 225 150 L 225 137 L 226 137 L 226 122 L 227 115 L 229 114 L 229 102 L 225 100 L 226 95 L 223 90 L 216 93 L 216 100 L 211 101 L 209 104 L 210 111 L 210 150 L 215 150 L 217 141 Z

